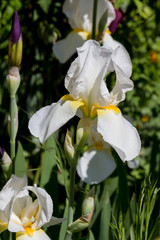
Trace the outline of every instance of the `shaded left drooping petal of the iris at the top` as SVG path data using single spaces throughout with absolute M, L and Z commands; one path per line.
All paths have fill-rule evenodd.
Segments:
M 65 63 L 74 53 L 76 48 L 82 46 L 87 40 L 88 34 L 83 31 L 72 31 L 65 39 L 56 42 L 53 52 L 60 63 Z

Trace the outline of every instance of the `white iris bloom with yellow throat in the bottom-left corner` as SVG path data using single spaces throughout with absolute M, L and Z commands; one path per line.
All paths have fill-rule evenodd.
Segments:
M 4 196 L 2 205 L 5 204 L 6 199 L 10 202 L 7 213 L 8 230 L 16 232 L 16 240 L 50 240 L 41 227 L 46 224 L 50 226 L 61 223 L 64 219 L 52 217 L 52 199 L 45 190 L 36 185 L 34 187 L 21 185 L 17 191 L 15 178 L 12 176 L 9 187 L 7 183 L 4 187 L 5 191 L 4 189 L 1 191 Z M 19 182 L 25 179 L 25 177 L 18 178 L 16 184 L 19 185 Z M 8 195 L 10 189 L 13 192 L 11 198 Z M 32 200 L 29 192 L 35 194 L 35 200 Z

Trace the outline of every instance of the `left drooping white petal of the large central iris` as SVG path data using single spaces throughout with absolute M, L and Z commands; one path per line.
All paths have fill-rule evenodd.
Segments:
M 83 105 L 82 102 L 60 99 L 37 111 L 29 121 L 29 130 L 44 143 L 57 129 L 76 115 L 77 109 Z

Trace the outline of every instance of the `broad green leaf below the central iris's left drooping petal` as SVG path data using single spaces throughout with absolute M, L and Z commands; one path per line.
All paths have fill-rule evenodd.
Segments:
M 56 166 L 56 142 L 54 135 L 48 138 L 42 160 L 40 187 L 44 187 L 50 180 L 53 168 Z

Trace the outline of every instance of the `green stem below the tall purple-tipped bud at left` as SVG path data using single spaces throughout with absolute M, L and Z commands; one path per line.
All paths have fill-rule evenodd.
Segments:
M 10 157 L 13 161 L 15 158 L 15 95 L 10 96 Z

